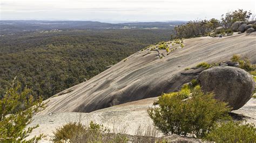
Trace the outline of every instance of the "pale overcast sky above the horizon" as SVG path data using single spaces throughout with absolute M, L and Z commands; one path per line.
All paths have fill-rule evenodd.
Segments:
M 1 20 L 165 22 L 220 19 L 237 9 L 255 13 L 255 0 L 0 0 Z

